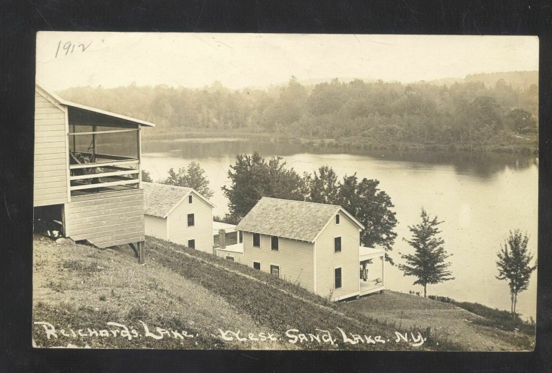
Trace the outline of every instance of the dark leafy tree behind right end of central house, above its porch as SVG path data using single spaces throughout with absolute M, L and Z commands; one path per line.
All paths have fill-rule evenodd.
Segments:
M 385 250 L 393 250 L 397 219 L 390 209 L 395 206 L 388 194 L 377 188 L 379 184 L 380 181 L 366 178 L 359 182 L 356 174 L 345 176 L 331 203 L 342 206 L 366 227 L 360 232 L 362 245 L 380 245 Z M 390 256 L 386 255 L 386 260 L 393 264 Z

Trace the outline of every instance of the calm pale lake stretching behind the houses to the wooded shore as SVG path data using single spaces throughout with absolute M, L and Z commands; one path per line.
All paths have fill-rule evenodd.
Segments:
M 228 201 L 221 191 L 230 185 L 228 168 L 239 153 L 259 152 L 264 157 L 284 157 L 299 174 L 330 165 L 339 178 L 357 173 L 359 178 L 377 179 L 395 205 L 398 236 L 391 256 L 402 263 L 399 252 L 413 252 L 404 237 L 408 225 L 420 221 L 422 206 L 444 223 L 440 225 L 445 248 L 453 254 L 451 271 L 455 280 L 428 285 L 428 294 L 473 301 L 493 308 L 510 309 L 506 281 L 498 281 L 496 254 L 509 230 L 520 228 L 529 234 L 529 249 L 537 252 L 538 159 L 517 154 L 454 154 L 443 152 L 400 153 L 324 148 L 250 140 L 168 141 L 143 143 L 143 168 L 152 179 L 165 178 L 170 168 L 197 161 L 206 171 L 215 192 L 214 214 L 224 215 Z M 386 287 L 422 292 L 415 279 L 397 267 L 386 267 Z M 522 292 L 517 310 L 535 317 L 536 272 L 529 289 Z

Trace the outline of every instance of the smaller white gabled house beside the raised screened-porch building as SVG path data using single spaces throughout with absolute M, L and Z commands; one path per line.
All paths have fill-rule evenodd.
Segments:
M 213 203 L 192 188 L 142 185 L 148 236 L 213 253 Z

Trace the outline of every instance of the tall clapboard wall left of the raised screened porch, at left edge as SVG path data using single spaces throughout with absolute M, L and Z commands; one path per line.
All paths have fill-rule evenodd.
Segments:
M 34 206 L 67 202 L 65 112 L 38 91 L 34 104 Z

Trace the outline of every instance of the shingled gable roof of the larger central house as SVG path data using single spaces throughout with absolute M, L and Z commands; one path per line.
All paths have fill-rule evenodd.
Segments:
M 343 212 L 355 225 L 360 229 L 364 229 L 362 223 L 339 205 L 270 197 L 260 199 L 251 211 L 244 216 L 244 219 L 239 222 L 236 229 L 286 239 L 314 242 L 320 232 L 339 212 Z

